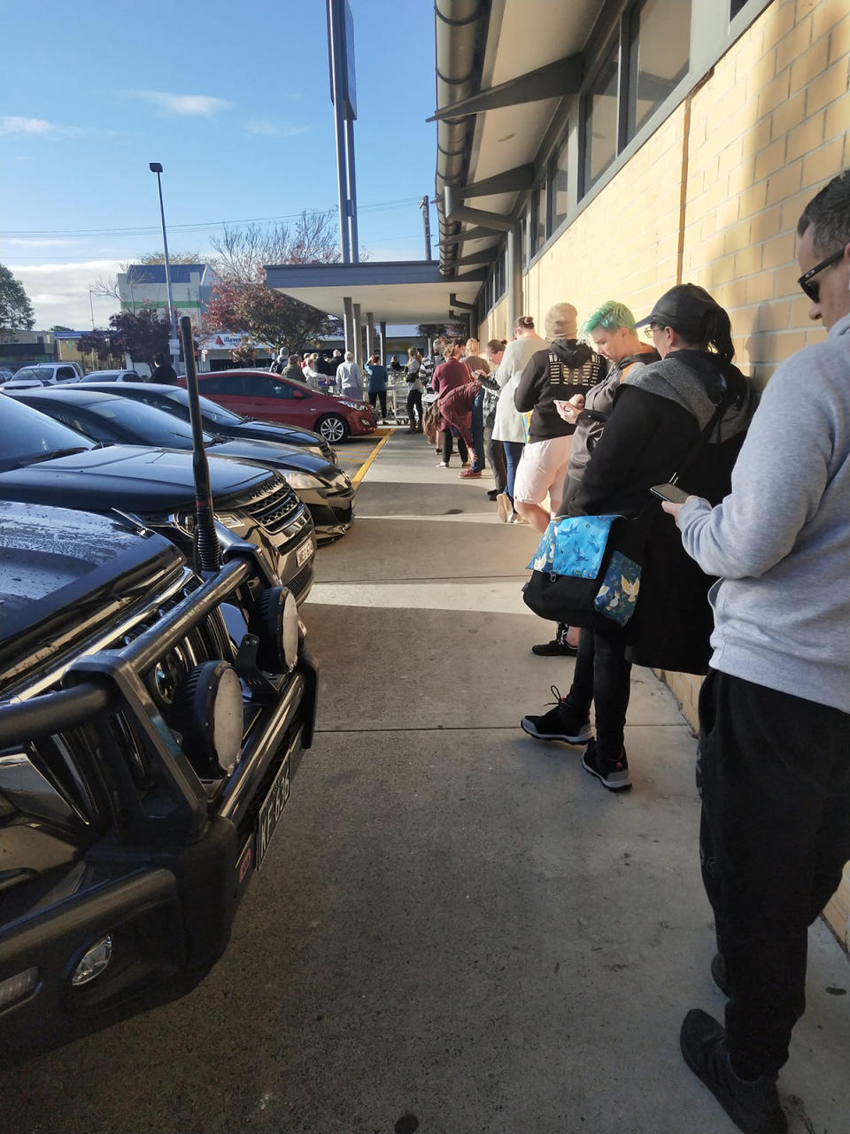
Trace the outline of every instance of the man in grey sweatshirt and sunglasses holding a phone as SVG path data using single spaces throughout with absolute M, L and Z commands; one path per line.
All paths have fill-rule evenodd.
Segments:
M 803 1013 L 807 930 L 850 860 L 850 170 L 798 225 L 800 287 L 825 341 L 771 379 L 710 508 L 666 505 L 707 574 L 700 858 L 725 1027 L 700 1009 L 682 1053 L 742 1131 L 784 1134 L 776 1076 Z

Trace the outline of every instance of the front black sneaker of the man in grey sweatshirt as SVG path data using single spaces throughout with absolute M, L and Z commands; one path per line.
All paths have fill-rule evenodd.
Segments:
M 776 1078 L 739 1078 L 732 1069 L 723 1027 L 701 1008 L 691 1008 L 682 1022 L 679 1044 L 684 1061 L 744 1134 L 788 1134 Z

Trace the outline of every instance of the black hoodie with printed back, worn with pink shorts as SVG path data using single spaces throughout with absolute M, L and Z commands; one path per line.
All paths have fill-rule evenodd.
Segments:
M 575 393 L 586 393 L 601 382 L 606 371 L 605 359 L 577 339 L 556 339 L 546 350 L 533 354 L 514 393 L 520 413 L 532 411 L 529 441 L 569 437 L 575 425 L 558 415 L 555 401 L 569 401 Z

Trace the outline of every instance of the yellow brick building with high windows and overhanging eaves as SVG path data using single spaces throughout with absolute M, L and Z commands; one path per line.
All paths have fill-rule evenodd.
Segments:
M 847 0 L 474 9 L 437 3 L 437 187 L 443 270 L 487 264 L 482 341 L 563 301 L 641 318 L 683 281 L 729 311 L 759 384 L 823 338 L 796 227 L 850 167 Z M 699 679 L 665 676 L 696 721 Z M 850 873 L 827 915 L 847 945 Z

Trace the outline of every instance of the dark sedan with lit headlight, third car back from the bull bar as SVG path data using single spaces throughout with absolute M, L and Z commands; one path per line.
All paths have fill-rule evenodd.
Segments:
M 22 391 L 15 397 L 101 445 L 192 449 L 192 426 L 188 422 L 120 393 L 74 386 Z M 212 433 L 204 433 L 204 446 L 211 457 L 255 460 L 279 469 L 310 509 L 320 542 L 336 540 L 351 527 L 354 521 L 354 489 L 346 473 L 328 464 L 323 457 L 315 457 L 292 445 L 251 438 L 227 440 Z

